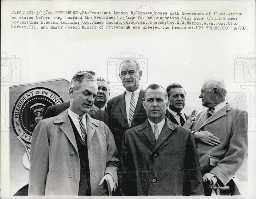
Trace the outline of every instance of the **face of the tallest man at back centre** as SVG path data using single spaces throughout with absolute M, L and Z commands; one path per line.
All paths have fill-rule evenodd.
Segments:
M 127 91 L 133 92 L 139 87 L 142 71 L 138 71 L 134 63 L 126 62 L 121 64 L 119 76 L 124 88 Z

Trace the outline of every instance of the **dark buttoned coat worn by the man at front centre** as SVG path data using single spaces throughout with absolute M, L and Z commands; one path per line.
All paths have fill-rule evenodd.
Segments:
M 157 141 L 148 120 L 124 133 L 120 179 L 124 195 L 204 195 L 191 131 L 165 121 Z

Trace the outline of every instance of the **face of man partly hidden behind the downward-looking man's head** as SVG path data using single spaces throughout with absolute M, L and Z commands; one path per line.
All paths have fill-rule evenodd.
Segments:
M 98 93 L 95 97 L 95 104 L 105 104 L 109 99 L 109 85 L 105 81 L 97 81 Z

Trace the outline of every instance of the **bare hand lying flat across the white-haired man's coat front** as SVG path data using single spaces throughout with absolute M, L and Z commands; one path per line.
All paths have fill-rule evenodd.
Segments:
M 194 133 L 194 137 L 198 138 L 200 141 L 210 146 L 219 145 L 221 143 L 220 139 L 214 136 L 209 131 L 200 131 L 200 132 L 197 131 Z

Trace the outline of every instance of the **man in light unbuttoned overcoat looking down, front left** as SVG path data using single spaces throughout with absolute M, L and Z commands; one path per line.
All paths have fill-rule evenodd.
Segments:
M 70 82 L 70 107 L 36 126 L 29 195 L 102 196 L 116 189 L 119 159 L 113 135 L 88 114 L 97 91 L 95 73 L 78 72 Z

